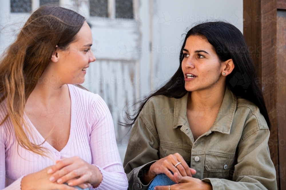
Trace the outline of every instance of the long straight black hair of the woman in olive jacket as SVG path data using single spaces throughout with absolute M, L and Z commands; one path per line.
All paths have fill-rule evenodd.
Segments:
M 219 59 L 224 62 L 232 59 L 235 65 L 234 70 L 227 75 L 227 85 L 231 91 L 244 99 L 253 102 L 260 109 L 269 129 L 271 124 L 267 114 L 263 93 L 257 83 L 257 75 L 248 46 L 242 33 L 234 25 L 223 21 L 201 23 L 191 28 L 185 36 L 184 43 L 180 51 L 180 66 L 176 73 L 161 88 L 151 93 L 148 97 L 139 101 L 139 108 L 134 115 L 127 114 L 130 123 L 124 126 L 132 126 L 144 105 L 153 96 L 164 95 L 172 98 L 182 98 L 186 93 L 184 85 L 184 73 L 182 71 L 182 60 L 184 58 L 183 49 L 186 40 L 190 35 L 204 36 L 215 49 Z

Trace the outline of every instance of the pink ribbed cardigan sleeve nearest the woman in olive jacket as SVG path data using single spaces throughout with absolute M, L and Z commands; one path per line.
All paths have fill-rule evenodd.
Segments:
M 125 190 L 128 181 L 119 156 L 111 113 L 98 95 L 92 105 L 93 125 L 90 134 L 92 164 L 99 168 L 103 179 L 94 189 Z

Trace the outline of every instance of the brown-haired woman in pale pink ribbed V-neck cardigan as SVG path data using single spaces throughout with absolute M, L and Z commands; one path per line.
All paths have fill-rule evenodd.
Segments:
M 96 58 L 85 18 L 40 7 L 0 62 L 0 189 L 127 189 L 110 111 L 75 85 Z

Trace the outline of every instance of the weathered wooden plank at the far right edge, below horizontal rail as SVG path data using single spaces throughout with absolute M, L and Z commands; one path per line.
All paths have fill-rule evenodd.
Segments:
M 286 2 L 285 2 L 286 3 Z M 273 109 L 278 124 L 278 147 L 279 147 L 279 179 L 280 189 L 286 189 L 285 165 L 286 165 L 286 122 L 285 122 L 285 103 L 286 103 L 286 10 L 277 11 L 277 104 Z

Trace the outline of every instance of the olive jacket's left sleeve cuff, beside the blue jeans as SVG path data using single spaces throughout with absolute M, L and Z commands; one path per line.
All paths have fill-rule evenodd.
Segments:
M 149 162 L 147 164 L 144 164 L 143 166 L 137 167 L 136 169 L 134 169 L 134 188 L 135 189 L 142 189 L 142 190 L 146 190 L 148 189 L 150 183 L 153 181 L 153 179 L 150 181 L 150 183 L 148 185 L 144 185 L 141 183 L 139 177 L 143 177 L 145 175 L 144 170 L 148 169 L 154 162 L 156 162 L 157 160 L 154 160 L 152 162 Z

